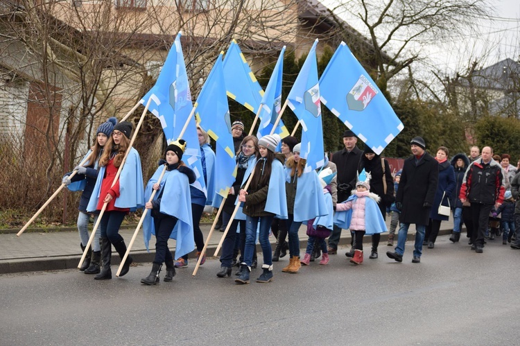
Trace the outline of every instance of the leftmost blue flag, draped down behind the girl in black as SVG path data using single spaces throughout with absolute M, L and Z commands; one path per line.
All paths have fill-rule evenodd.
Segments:
M 152 98 L 148 110 L 161 121 L 162 130 L 168 144 L 175 141 L 180 135 L 193 108 L 180 37 L 181 33 L 178 33 L 161 73 L 159 73 L 157 83 L 141 99 L 141 103 L 146 104 L 148 99 Z M 207 195 L 204 175 L 202 175 L 202 163 L 200 162 L 196 123 L 193 116 L 187 130 L 182 135 L 182 139 L 186 141 L 183 161 L 193 169 L 197 177 L 196 182 L 191 185 Z

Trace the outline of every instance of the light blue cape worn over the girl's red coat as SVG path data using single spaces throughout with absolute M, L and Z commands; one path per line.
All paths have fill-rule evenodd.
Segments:
M 90 196 L 87 211 L 96 211 L 98 207 L 99 193 L 101 193 L 101 182 L 105 176 L 105 166 L 101 167 Z M 103 196 L 104 197 L 104 196 Z M 136 211 L 144 207 L 144 185 L 143 172 L 141 171 L 141 158 L 135 148 L 130 149 L 126 162 L 119 175 L 119 197 L 116 198 L 115 206 L 118 208 L 130 208 Z

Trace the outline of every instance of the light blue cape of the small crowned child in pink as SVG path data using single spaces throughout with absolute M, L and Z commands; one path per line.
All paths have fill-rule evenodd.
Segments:
M 352 195 L 345 202 L 354 202 L 358 196 Z M 343 202 L 344 203 L 344 202 Z M 334 225 L 348 230 L 352 221 L 352 209 L 336 211 L 334 214 Z M 376 234 L 386 232 L 386 223 L 375 200 L 365 197 L 365 234 Z

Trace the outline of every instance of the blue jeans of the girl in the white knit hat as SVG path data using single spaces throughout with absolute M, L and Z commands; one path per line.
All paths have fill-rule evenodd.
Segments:
M 263 264 L 272 266 L 272 249 L 269 243 L 269 231 L 271 230 L 272 219 L 275 216 L 247 216 L 245 219 L 245 249 L 244 263 L 250 267 L 253 261 L 253 254 L 257 243 L 257 227 L 260 223 L 259 242 L 262 248 Z

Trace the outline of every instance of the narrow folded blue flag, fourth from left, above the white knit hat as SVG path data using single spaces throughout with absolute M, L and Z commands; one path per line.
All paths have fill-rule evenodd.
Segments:
M 270 135 L 272 126 L 275 125 L 276 119 L 281 110 L 281 80 L 284 73 L 284 53 L 285 46 L 281 49 L 280 55 L 272 70 L 271 78 L 266 87 L 266 92 L 263 94 L 261 101 L 262 109 L 259 114 L 260 126 L 258 128 L 257 137 L 261 138 L 265 135 Z M 284 126 L 284 122 L 279 121 L 277 129 L 274 133 L 280 135 L 280 138 L 287 137 L 289 132 Z

